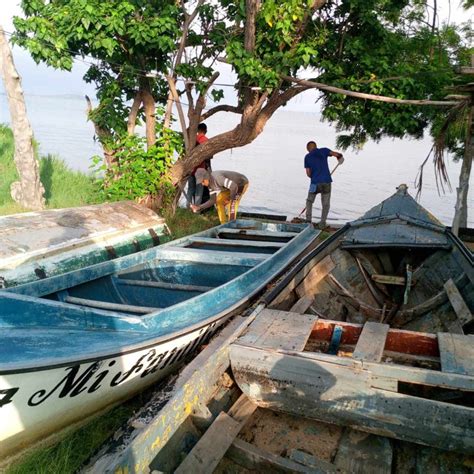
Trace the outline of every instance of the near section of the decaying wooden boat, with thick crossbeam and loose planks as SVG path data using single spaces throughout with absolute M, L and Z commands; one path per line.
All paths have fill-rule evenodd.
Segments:
M 299 310 L 236 317 L 83 472 L 471 472 L 472 336 Z

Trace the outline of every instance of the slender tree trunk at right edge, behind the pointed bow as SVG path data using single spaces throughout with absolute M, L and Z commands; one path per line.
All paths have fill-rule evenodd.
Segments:
M 472 126 L 473 114 L 474 106 L 471 106 L 468 116 L 466 146 L 462 160 L 461 173 L 459 175 L 459 187 L 457 188 L 457 199 L 452 225 L 454 235 L 458 235 L 460 227 L 467 227 L 467 195 L 469 191 L 469 178 L 471 176 L 472 155 L 474 153 L 474 128 Z

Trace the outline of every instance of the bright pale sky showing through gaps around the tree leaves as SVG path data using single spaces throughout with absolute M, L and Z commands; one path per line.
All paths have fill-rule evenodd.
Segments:
M 21 16 L 20 0 L 0 0 L 0 25 L 6 32 L 13 31 L 12 19 L 15 15 Z M 461 0 L 439 0 L 440 17 L 451 22 L 462 22 L 468 19 L 468 13 L 460 7 Z M 471 16 L 472 18 L 472 16 Z M 85 95 L 94 96 L 94 87 L 86 84 L 82 77 L 89 65 L 76 61 L 73 71 L 58 71 L 43 64 L 37 65 L 25 50 L 14 47 L 13 56 L 16 67 L 22 77 L 25 94 L 29 95 Z M 229 71 L 223 70 L 219 80 L 232 82 Z M 3 93 L 3 84 L 0 81 L 0 93 Z M 314 110 L 316 91 L 305 93 L 292 101 L 289 109 L 311 111 Z

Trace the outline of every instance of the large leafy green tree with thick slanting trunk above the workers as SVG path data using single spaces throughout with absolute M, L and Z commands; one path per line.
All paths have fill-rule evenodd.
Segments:
M 101 60 L 86 78 L 96 82 L 101 101 L 93 119 L 109 134 L 124 129 L 126 116 L 133 122 L 140 99 L 131 107 L 127 100 L 136 98 L 140 82 L 157 70 L 158 79 L 148 81 L 152 96 L 167 104 L 165 125 L 176 106 L 185 144 L 170 170 L 175 185 L 203 159 L 253 141 L 276 110 L 311 87 L 294 80 L 300 73 L 360 93 L 442 99 L 466 50 L 454 28 L 437 27 L 436 14 L 422 0 L 24 0 L 22 5 L 26 19 L 16 19 L 16 38 L 35 59 L 66 68 L 75 56 Z M 124 18 L 133 18 L 134 27 Z M 140 44 L 134 43 L 137 37 Z M 142 50 L 146 60 L 138 61 Z M 234 100 L 226 104 L 217 85 L 221 63 L 237 78 Z M 209 95 L 213 103 L 207 108 Z M 444 113 L 324 90 L 322 103 L 323 119 L 347 132 L 339 138 L 343 147 L 385 135 L 419 138 Z M 240 122 L 195 147 L 198 123 L 218 113 L 239 114 Z

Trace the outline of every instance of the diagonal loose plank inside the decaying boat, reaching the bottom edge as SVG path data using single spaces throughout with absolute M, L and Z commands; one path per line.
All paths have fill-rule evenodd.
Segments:
M 178 466 L 175 473 L 206 474 L 213 472 L 234 438 L 256 409 L 257 406 L 254 403 L 245 395 L 241 395 L 228 414 L 221 412 L 218 415 L 184 461 Z

